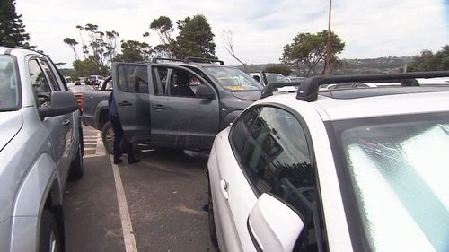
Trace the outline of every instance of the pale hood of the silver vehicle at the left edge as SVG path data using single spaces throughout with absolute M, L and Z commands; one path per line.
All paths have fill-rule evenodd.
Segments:
M 0 112 L 0 152 L 23 126 L 22 113 L 19 111 Z

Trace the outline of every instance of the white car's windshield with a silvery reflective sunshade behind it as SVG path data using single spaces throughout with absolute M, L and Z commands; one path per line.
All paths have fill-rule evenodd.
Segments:
M 449 115 L 395 118 L 340 126 L 366 242 L 373 251 L 447 251 Z

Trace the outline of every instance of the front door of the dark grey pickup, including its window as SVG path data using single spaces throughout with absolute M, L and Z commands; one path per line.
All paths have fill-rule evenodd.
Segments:
M 219 130 L 218 93 L 180 65 L 151 65 L 151 142 L 180 149 L 210 149 Z

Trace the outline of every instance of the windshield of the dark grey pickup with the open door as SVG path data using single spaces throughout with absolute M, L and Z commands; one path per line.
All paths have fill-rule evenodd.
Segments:
M 227 66 L 205 67 L 208 74 L 216 78 L 218 83 L 228 91 L 261 91 L 262 86 L 243 71 Z

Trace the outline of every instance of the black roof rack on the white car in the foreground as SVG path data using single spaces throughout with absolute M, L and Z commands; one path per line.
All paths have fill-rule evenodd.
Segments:
M 401 83 L 401 86 L 417 86 L 416 78 L 449 77 L 449 71 L 414 72 L 403 74 L 353 74 L 353 75 L 320 75 L 292 83 L 269 83 L 264 87 L 260 98 L 273 95 L 276 88 L 284 86 L 298 86 L 296 99 L 315 101 L 318 99 L 318 90 L 321 85 L 334 83 Z

